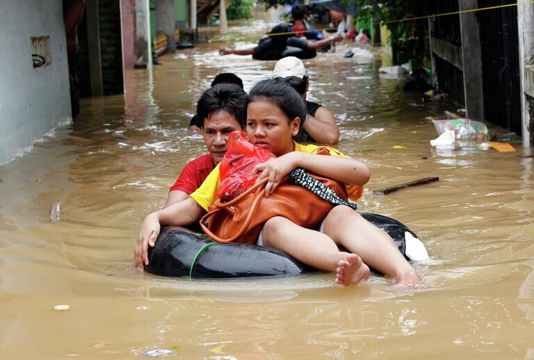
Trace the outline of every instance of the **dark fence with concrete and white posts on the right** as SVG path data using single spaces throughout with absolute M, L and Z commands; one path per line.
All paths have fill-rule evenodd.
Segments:
M 467 116 L 533 142 L 534 4 L 439 0 L 428 20 L 436 85 Z M 487 10 L 476 10 L 490 8 Z M 473 11 L 476 10 L 476 11 Z

